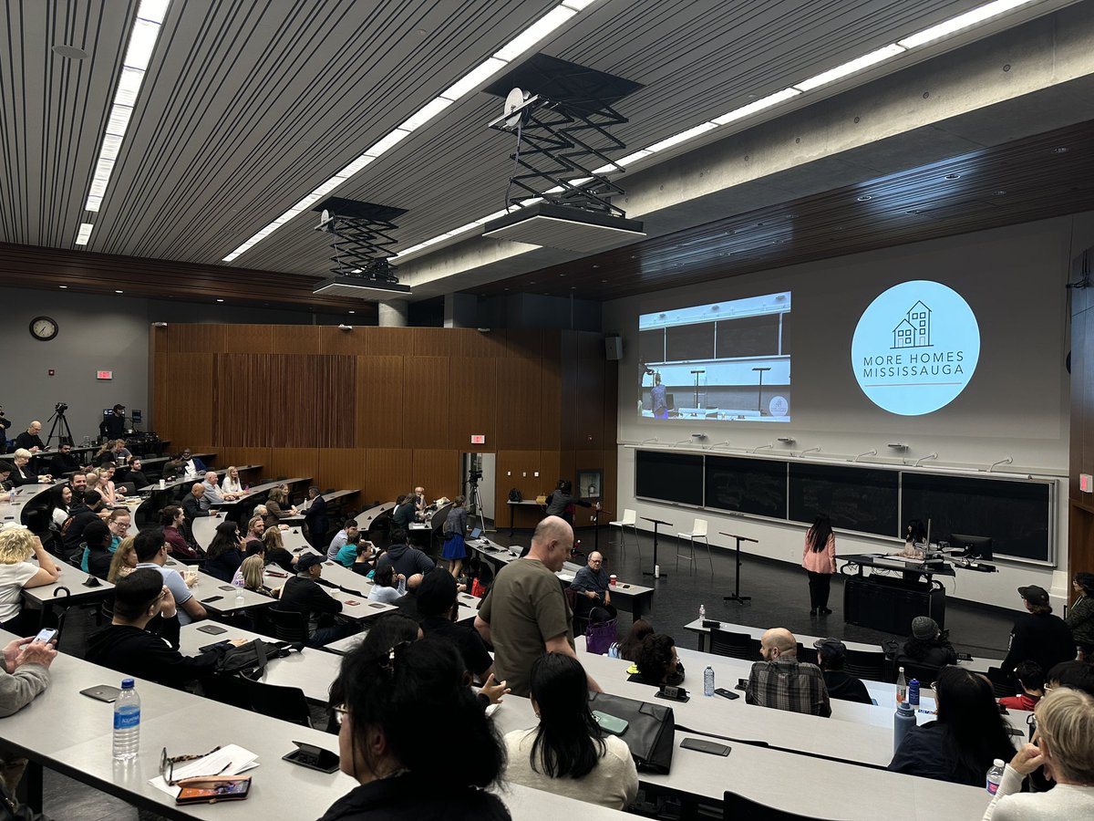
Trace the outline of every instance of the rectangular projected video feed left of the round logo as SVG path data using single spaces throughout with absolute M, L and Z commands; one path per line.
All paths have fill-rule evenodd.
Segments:
M 639 414 L 790 421 L 790 291 L 642 314 Z

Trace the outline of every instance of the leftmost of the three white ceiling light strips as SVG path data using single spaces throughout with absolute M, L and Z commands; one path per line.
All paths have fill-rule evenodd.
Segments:
M 114 173 L 114 164 L 121 150 L 126 131 L 129 129 L 129 118 L 137 104 L 137 97 L 144 82 L 144 72 L 152 60 L 156 41 L 160 38 L 160 28 L 170 5 L 171 0 L 142 0 L 137 10 L 137 19 L 129 32 L 129 45 L 126 47 L 126 56 L 121 61 L 121 74 L 118 77 L 118 84 L 114 90 L 114 101 L 106 120 L 103 142 L 98 149 L 95 173 L 92 175 L 88 198 L 84 201 L 83 207 L 86 211 L 97 211 L 103 206 L 103 197 L 106 196 L 106 188 L 110 183 L 110 175 Z M 90 226 L 91 223 L 83 224 Z M 83 236 L 84 240 L 80 242 L 78 238 L 77 244 L 79 245 L 86 244 L 86 235 L 82 232 L 81 228 L 80 236 Z M 91 233 L 90 228 L 88 233 Z

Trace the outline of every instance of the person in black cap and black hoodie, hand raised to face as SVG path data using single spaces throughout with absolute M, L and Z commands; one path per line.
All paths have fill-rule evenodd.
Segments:
M 219 654 L 190 657 L 178 651 L 178 615 L 163 577 L 139 567 L 114 588 L 114 618 L 88 639 L 86 659 L 168 687 L 184 687 L 211 674 Z M 153 618 L 158 633 L 147 629 Z M 241 638 L 232 644 L 246 643 Z

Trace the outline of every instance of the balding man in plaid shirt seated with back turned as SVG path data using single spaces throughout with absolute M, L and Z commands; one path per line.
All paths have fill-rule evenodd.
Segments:
M 761 707 L 831 715 L 824 673 L 816 664 L 798 660 L 798 640 L 784 627 L 773 627 L 760 638 L 763 661 L 753 664 L 745 702 Z M 987 771 L 985 771 L 987 772 Z

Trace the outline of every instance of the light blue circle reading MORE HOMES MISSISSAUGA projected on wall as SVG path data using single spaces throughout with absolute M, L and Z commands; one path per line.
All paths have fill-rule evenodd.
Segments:
M 871 402 L 922 416 L 953 402 L 976 371 L 980 326 L 957 291 L 916 280 L 893 286 L 863 311 L 851 369 Z

